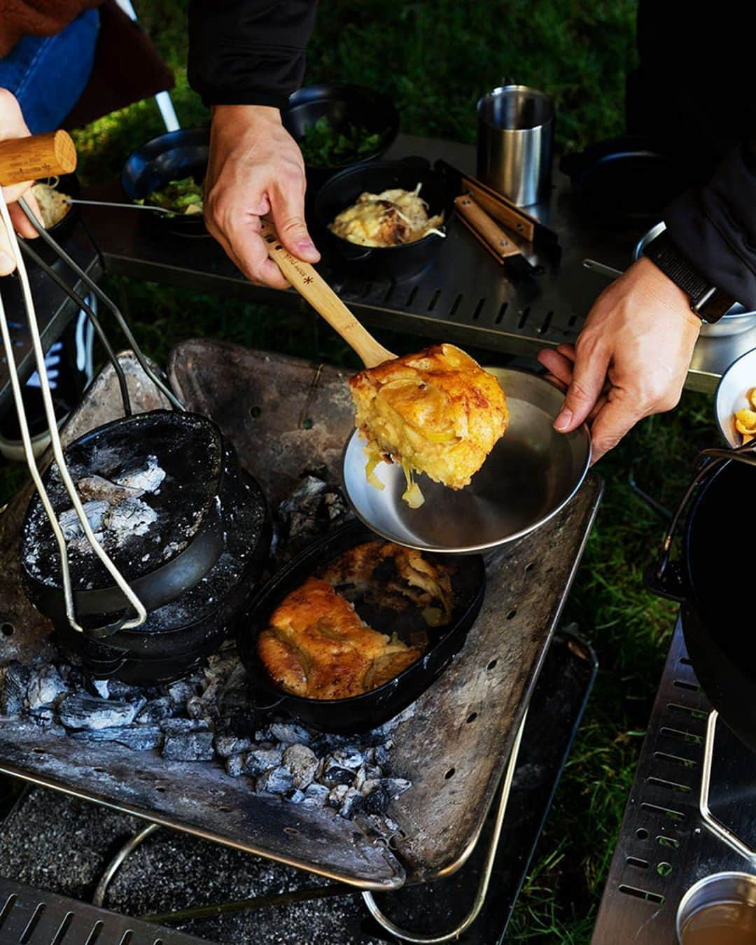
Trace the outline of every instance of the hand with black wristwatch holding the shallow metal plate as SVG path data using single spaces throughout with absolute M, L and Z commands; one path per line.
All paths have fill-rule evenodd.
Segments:
M 593 303 L 575 347 L 539 352 L 567 389 L 555 429 L 588 421 L 595 462 L 639 420 L 677 406 L 700 327 L 682 289 L 638 260 Z

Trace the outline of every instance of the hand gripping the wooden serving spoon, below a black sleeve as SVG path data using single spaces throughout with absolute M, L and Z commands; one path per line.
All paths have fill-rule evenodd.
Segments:
M 219 105 L 213 111 L 205 179 L 208 230 L 258 285 L 289 283 L 268 259 L 260 217 L 271 214 L 283 246 L 306 263 L 320 258 L 304 222 L 304 161 L 278 109 Z

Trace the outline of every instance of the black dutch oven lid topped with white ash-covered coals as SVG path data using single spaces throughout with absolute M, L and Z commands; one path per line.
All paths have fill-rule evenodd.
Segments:
M 137 414 L 98 427 L 65 452 L 94 533 L 129 581 L 177 558 L 217 517 L 222 438 L 215 423 L 197 414 Z M 111 587 L 55 463 L 43 479 L 68 540 L 74 591 Z M 26 512 L 21 563 L 33 583 L 62 588 L 58 545 L 38 495 Z

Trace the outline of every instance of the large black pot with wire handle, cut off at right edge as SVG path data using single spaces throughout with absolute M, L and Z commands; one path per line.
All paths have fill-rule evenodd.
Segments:
M 756 751 L 748 541 L 754 490 L 756 469 L 734 460 L 710 461 L 686 492 L 646 583 L 681 604 L 682 631 L 698 681 L 722 720 Z M 673 560 L 670 545 L 683 522 L 679 557 Z

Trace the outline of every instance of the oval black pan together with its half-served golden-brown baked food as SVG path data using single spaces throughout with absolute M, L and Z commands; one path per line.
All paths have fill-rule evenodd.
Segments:
M 485 587 L 480 556 L 423 555 L 342 525 L 273 576 L 240 620 L 253 699 L 322 731 L 381 725 L 461 649 Z

